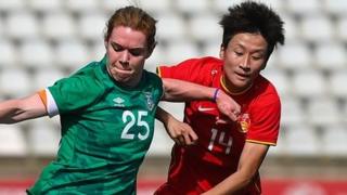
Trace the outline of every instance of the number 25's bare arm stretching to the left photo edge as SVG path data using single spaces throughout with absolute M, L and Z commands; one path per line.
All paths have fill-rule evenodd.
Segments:
M 0 103 L 0 123 L 15 123 L 46 115 L 44 104 L 38 94 Z

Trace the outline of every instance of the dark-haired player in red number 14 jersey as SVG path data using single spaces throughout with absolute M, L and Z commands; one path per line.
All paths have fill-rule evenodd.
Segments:
M 196 145 L 174 145 L 168 179 L 156 195 L 260 194 L 258 169 L 277 144 L 281 103 L 261 76 L 277 47 L 284 43 L 283 22 L 262 3 L 246 1 L 222 16 L 220 58 L 190 58 L 159 66 L 162 78 L 187 80 L 224 91 L 241 105 L 236 122 L 222 117 L 211 101 L 185 103 L 184 121 L 198 136 Z

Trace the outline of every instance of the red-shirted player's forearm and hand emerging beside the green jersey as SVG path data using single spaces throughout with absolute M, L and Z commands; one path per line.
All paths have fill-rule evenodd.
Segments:
M 180 145 L 191 145 L 197 140 L 193 129 L 185 122 L 176 119 L 172 115 L 158 107 L 155 117 L 160 120 L 169 136 Z

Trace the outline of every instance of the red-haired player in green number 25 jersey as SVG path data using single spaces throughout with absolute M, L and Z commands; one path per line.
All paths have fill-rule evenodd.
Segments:
M 102 61 L 33 95 L 0 103 L 0 123 L 61 117 L 57 157 L 28 194 L 136 194 L 159 100 L 213 99 L 215 88 L 181 83 L 189 90 L 180 91 L 180 82 L 172 80 L 163 88 L 157 75 L 143 69 L 155 48 L 155 23 L 139 8 L 116 10 L 107 23 Z M 195 139 L 184 132 L 175 136 Z

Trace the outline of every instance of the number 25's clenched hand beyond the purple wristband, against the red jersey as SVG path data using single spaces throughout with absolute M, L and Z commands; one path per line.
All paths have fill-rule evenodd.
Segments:
M 230 120 L 237 120 L 241 113 L 241 106 L 231 96 L 226 94 L 223 91 L 218 90 L 216 103 L 219 112 L 226 116 L 217 118 L 217 123 L 228 123 Z

